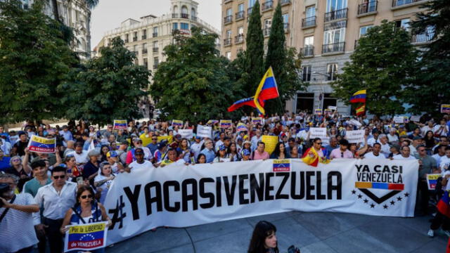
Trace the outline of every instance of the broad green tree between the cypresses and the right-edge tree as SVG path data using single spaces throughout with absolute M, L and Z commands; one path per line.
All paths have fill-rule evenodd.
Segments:
M 394 22 L 383 20 L 371 27 L 358 46 L 351 62 L 345 63 L 344 72 L 333 82 L 334 96 L 349 103 L 356 91 L 367 89 L 366 110 L 375 115 L 395 115 L 404 112 L 402 89 L 411 84 L 416 71 L 415 48 L 406 30 L 395 27 Z

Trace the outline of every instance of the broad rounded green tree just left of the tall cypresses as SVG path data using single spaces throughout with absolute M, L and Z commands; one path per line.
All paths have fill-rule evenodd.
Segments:
M 164 48 L 150 95 L 168 119 L 197 122 L 224 117 L 234 101 L 231 63 L 219 56 L 217 34 L 192 27 L 192 37 L 175 36 Z

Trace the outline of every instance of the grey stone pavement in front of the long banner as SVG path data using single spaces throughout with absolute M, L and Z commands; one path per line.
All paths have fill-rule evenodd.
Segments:
M 247 252 L 253 227 L 266 220 L 277 228 L 281 253 L 445 252 L 442 233 L 428 238 L 431 216 L 393 218 L 329 212 L 283 212 L 189 228 L 158 228 L 108 247 L 106 253 Z

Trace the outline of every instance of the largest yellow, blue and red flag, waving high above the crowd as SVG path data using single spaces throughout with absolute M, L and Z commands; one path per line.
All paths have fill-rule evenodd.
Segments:
M 258 89 L 256 90 L 253 101 L 256 105 L 259 114 L 265 115 L 264 101 L 272 98 L 278 98 L 280 94 L 278 93 L 278 87 L 276 86 L 276 80 L 274 77 L 274 70 L 269 67 L 264 77 L 262 77 L 261 82 L 259 82 Z

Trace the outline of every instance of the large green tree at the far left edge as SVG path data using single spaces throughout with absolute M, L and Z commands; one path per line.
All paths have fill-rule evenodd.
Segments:
M 79 63 L 59 24 L 36 2 L 0 1 L 0 104 L 2 122 L 63 117 L 56 87 Z

